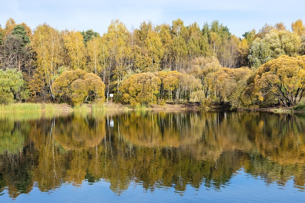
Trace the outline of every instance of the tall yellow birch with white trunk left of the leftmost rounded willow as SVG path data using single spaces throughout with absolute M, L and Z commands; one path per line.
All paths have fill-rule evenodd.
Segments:
M 33 35 L 32 47 L 37 55 L 37 70 L 30 84 L 35 85 L 37 83 L 35 78 L 38 78 L 42 84 L 41 87 L 36 88 L 39 91 L 46 88 L 53 100 L 55 96 L 51 84 L 57 75 L 57 69 L 63 64 L 62 33 L 47 24 L 39 25 Z M 31 86 L 30 90 L 34 95 L 37 92 Z

